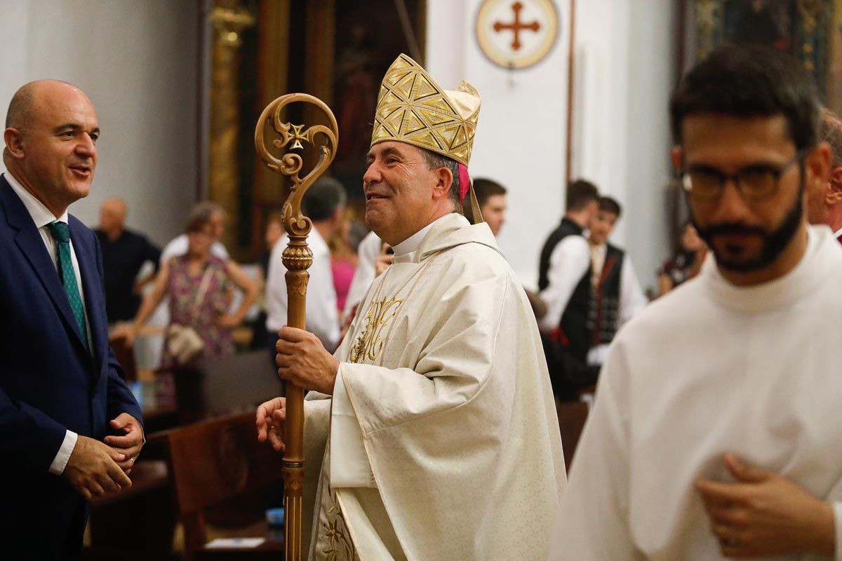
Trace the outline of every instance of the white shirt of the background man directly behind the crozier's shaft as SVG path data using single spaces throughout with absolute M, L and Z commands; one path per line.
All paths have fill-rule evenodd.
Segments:
M 283 256 L 289 240 L 286 234 L 280 236 L 269 256 L 269 274 L 266 278 L 266 329 L 274 334 L 286 325 L 289 297 L 286 294 L 286 267 Z M 310 230 L 307 242 L 313 254 L 313 262 L 308 269 L 310 280 L 307 283 L 306 329 L 317 336 L 325 348 L 333 350 L 339 342 L 339 314 L 336 288 L 333 287 L 330 248 L 316 228 Z

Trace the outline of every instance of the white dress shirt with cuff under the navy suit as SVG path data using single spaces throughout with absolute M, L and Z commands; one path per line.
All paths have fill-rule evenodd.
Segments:
M 40 202 L 40 200 L 35 198 L 32 193 L 29 193 L 29 191 L 27 191 L 11 173 L 3 173 L 3 177 L 6 177 L 8 184 L 12 186 L 14 192 L 17 193 L 21 202 L 24 203 L 27 211 L 29 211 L 29 216 L 31 216 L 32 221 L 35 222 L 35 227 L 38 229 L 38 233 L 41 235 L 41 239 L 44 241 L 47 251 L 50 253 L 50 259 L 53 262 L 53 265 L 56 266 L 56 273 L 58 273 L 58 242 L 55 238 L 53 238 L 50 228 L 48 228 L 47 225 L 51 224 L 51 222 L 64 222 L 67 224 L 67 210 L 65 210 L 64 214 L 61 214 L 61 216 L 56 218 L 56 216 L 52 214 L 50 210 Z M 76 258 L 76 250 L 73 249 L 72 240 L 70 241 L 70 260 L 73 264 L 73 273 L 76 275 L 79 297 L 82 299 L 82 310 L 85 314 L 85 327 L 88 331 L 88 341 L 91 341 L 91 322 L 88 320 L 88 307 L 87 304 L 85 304 L 85 293 L 82 287 L 82 273 L 79 272 L 79 262 Z M 77 433 L 70 430 L 65 432 L 64 440 L 61 442 L 61 447 L 59 447 L 58 453 L 56 453 L 56 458 L 53 458 L 53 461 L 50 464 L 51 474 L 61 475 L 64 473 L 64 468 L 67 466 L 67 460 L 70 459 L 73 447 L 76 446 L 77 438 Z

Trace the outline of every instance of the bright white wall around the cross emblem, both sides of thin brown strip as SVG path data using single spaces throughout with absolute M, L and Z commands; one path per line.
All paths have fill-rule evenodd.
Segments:
M 462 78 L 482 94 L 474 177 L 509 188 L 498 241 L 526 285 L 564 208 L 568 3 L 556 2 L 561 33 L 551 54 L 522 71 L 493 66 L 473 25 L 480 0 L 429 0 L 427 65 L 445 87 Z M 669 0 L 578 0 L 575 7 L 572 177 L 621 201 L 612 240 L 632 255 L 643 288 L 668 256 L 667 104 L 674 85 L 677 7 Z

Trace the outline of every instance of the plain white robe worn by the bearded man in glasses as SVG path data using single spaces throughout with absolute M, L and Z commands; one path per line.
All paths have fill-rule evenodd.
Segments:
M 842 251 L 736 287 L 708 259 L 624 327 L 600 373 L 552 559 L 720 559 L 696 479 L 733 482 L 735 453 L 836 502 L 842 558 Z M 788 556 L 808 559 L 810 556 Z

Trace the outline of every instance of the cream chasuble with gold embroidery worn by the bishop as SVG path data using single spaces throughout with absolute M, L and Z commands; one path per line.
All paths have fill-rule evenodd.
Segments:
M 333 413 L 306 401 L 331 426 L 311 558 L 546 558 L 562 442 L 535 317 L 488 225 L 448 214 L 396 255 L 335 356 Z

